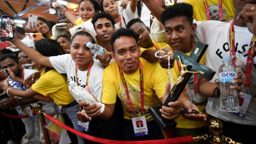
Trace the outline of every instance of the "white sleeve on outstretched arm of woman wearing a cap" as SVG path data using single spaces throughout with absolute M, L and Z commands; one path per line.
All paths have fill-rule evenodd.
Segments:
M 67 73 L 66 64 L 70 64 L 67 63 L 69 57 L 71 57 L 70 54 L 51 56 L 50 62 L 58 73 Z

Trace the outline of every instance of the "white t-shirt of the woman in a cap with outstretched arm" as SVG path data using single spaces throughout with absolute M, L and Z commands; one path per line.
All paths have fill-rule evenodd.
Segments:
M 101 95 L 102 95 L 102 74 L 104 67 L 101 65 L 99 60 L 93 59 L 94 63 L 91 67 L 88 86 L 91 90 L 91 93 L 101 102 Z M 70 54 L 59 55 L 59 56 L 52 56 L 50 57 L 50 62 L 53 67 L 59 73 L 66 73 L 68 76 L 68 82 L 74 81 L 76 82 L 75 76 L 75 61 L 72 59 Z M 79 86 L 85 87 L 86 86 L 86 77 L 87 77 L 87 70 L 80 71 L 77 68 L 77 77 L 79 81 Z M 70 85 L 69 85 L 70 90 Z

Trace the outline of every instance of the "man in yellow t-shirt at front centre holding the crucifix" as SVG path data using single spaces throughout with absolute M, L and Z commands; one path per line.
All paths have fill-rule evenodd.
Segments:
M 159 64 L 140 58 L 138 37 L 133 30 L 119 29 L 112 35 L 110 42 L 114 48 L 115 62 L 103 71 L 101 102 L 105 104 L 105 109 L 99 114 L 98 109 L 101 105 L 85 105 L 86 114 L 88 116 L 99 114 L 98 117 L 109 119 L 113 114 L 118 95 L 124 112 L 123 140 L 163 139 L 161 129 L 148 112 L 148 108 L 161 105 L 169 95 L 170 83 L 167 74 Z M 142 86 L 144 95 L 141 93 Z M 162 106 L 160 112 L 163 118 L 175 119 L 179 116 L 180 107 L 186 110 L 197 109 L 193 104 L 188 106 L 188 103 L 191 104 L 188 98 L 181 95 L 178 101 L 169 103 L 171 107 Z M 147 121 L 150 135 L 135 137 L 131 119 L 141 117 Z

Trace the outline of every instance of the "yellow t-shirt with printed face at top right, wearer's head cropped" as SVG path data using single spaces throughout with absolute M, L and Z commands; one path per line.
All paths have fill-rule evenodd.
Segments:
M 193 6 L 193 18 L 197 21 L 207 20 L 203 0 L 184 0 L 185 3 L 189 3 Z M 218 0 L 206 0 L 208 9 L 211 16 L 211 20 L 219 17 L 219 1 Z M 234 17 L 234 6 L 232 0 L 223 0 L 223 19 L 227 20 Z

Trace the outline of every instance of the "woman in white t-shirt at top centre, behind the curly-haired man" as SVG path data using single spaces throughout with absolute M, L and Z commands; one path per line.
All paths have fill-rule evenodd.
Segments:
M 114 0 L 101 0 L 100 1 L 100 11 L 109 13 L 115 19 L 115 29 L 126 28 L 126 24 L 134 18 L 138 18 L 137 14 L 137 2 L 138 0 L 131 0 L 123 9 L 123 13 L 119 14 L 118 5 Z

